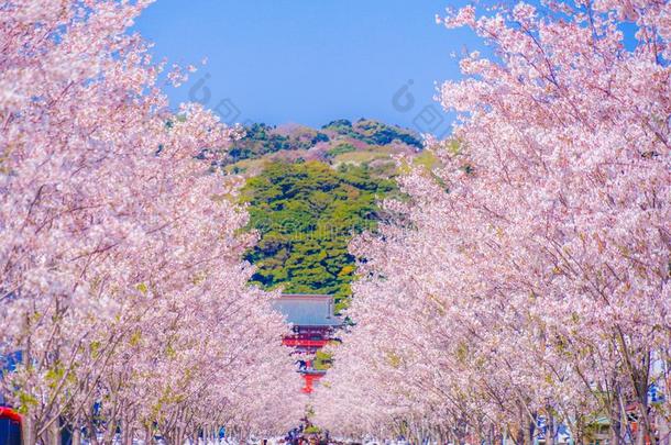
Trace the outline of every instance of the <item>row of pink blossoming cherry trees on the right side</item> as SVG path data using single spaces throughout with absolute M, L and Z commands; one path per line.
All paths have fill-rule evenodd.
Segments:
M 539 7 L 540 8 L 540 7 Z M 341 434 L 668 443 L 671 3 L 518 3 L 440 90 L 463 113 L 441 167 L 400 183 L 317 389 Z M 651 392 L 657 392 L 651 397 Z M 632 431 L 632 420 L 637 430 Z

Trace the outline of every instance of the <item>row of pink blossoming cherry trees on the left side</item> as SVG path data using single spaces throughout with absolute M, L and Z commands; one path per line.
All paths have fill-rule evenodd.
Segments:
M 22 356 L 2 392 L 29 444 L 63 425 L 183 443 L 301 414 L 273 296 L 246 286 L 237 185 L 196 159 L 235 131 L 167 111 L 164 66 L 128 32 L 147 3 L 0 7 L 0 347 Z

